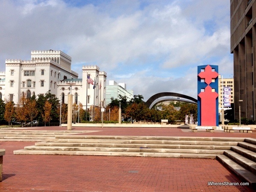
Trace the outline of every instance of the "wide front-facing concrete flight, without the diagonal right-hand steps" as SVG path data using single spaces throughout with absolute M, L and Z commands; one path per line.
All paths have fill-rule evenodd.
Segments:
M 14 154 L 216 158 L 244 138 L 55 135 Z

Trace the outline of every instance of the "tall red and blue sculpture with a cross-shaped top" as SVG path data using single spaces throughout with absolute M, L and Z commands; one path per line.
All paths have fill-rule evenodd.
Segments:
M 218 126 L 218 66 L 198 66 L 198 126 Z

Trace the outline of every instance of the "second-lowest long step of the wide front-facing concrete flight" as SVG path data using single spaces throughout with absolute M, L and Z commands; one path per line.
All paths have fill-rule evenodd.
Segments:
M 116 152 L 152 152 L 152 153 L 201 153 L 223 154 L 224 150 L 217 149 L 186 149 L 186 148 L 127 148 L 127 147 L 61 147 L 61 146 L 26 146 L 25 150 L 36 151 L 116 151 Z

